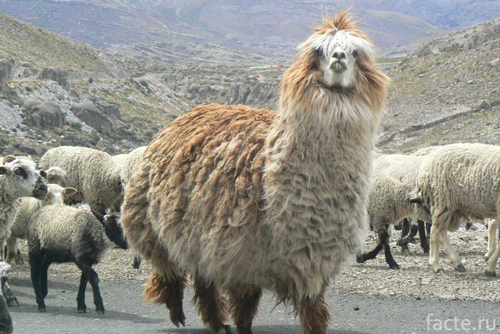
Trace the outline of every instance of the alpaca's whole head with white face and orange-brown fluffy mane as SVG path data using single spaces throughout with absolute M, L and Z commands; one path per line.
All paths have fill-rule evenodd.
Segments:
M 306 93 L 355 93 L 371 109 L 383 107 L 390 79 L 376 69 L 373 44 L 355 24 L 347 10 L 323 18 L 283 77 L 281 103 L 303 99 Z

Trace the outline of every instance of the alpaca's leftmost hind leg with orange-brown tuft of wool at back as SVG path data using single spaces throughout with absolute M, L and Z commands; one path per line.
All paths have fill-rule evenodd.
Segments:
M 186 317 L 182 308 L 185 286 L 184 276 L 173 273 L 161 275 L 153 272 L 144 289 L 145 300 L 154 299 L 155 304 L 165 304 L 172 323 L 176 327 L 179 326 L 179 323 L 185 326 Z

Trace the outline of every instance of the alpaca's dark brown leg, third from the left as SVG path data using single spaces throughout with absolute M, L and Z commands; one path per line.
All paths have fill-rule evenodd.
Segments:
M 258 309 L 262 289 L 256 286 L 229 291 L 229 308 L 236 324 L 236 334 L 252 334 L 251 325 Z M 227 330 L 226 330 L 227 333 Z

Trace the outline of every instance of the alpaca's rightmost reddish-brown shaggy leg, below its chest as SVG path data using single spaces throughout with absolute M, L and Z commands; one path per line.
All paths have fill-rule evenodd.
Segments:
M 324 290 L 325 286 L 313 300 L 310 298 L 300 300 L 298 315 L 303 334 L 326 334 L 330 313 L 328 304 L 324 301 Z

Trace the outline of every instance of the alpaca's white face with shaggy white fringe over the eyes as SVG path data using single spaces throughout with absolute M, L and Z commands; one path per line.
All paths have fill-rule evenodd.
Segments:
M 342 90 L 354 84 L 359 57 L 372 57 L 371 45 L 350 32 L 327 32 L 312 40 L 317 57 L 317 81 L 333 90 Z

